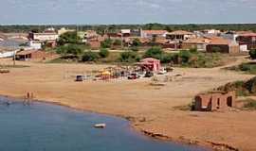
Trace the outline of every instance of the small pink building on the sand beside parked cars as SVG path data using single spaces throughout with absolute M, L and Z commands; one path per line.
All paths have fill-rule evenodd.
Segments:
M 147 58 L 142 59 L 137 65 L 141 66 L 142 69 L 151 72 L 159 72 L 161 70 L 161 63 L 159 59 Z

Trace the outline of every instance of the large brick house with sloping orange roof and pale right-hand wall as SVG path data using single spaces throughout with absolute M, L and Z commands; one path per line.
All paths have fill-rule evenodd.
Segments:
M 240 46 L 236 42 L 232 42 L 220 37 L 211 37 L 210 42 L 206 46 L 206 52 L 213 53 L 227 53 L 227 54 L 239 54 Z

